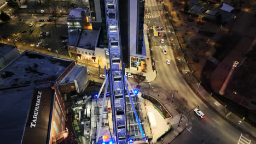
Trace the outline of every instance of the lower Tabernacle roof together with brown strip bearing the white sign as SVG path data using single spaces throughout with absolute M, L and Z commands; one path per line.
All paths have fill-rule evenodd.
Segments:
M 54 90 L 53 83 L 44 83 L 37 86 L 24 86 L 0 90 L 0 100 L 5 101 L 0 106 L 0 129 L 4 131 L 0 138 L 2 143 L 37 143 L 44 144 L 48 134 L 48 124 L 51 109 L 51 100 Z M 36 88 L 34 88 L 36 87 Z M 36 125 L 32 120 L 37 97 L 40 94 L 40 105 Z M 8 115 L 9 113 L 9 115 Z

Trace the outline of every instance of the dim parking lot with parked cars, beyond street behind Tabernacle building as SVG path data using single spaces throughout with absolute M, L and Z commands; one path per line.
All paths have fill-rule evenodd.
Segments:
M 32 27 L 30 27 L 30 23 L 25 22 L 10 22 L 5 23 L 5 25 L 0 26 L 1 31 L 0 35 L 8 34 L 9 39 L 15 39 L 17 37 L 21 37 L 21 39 L 16 43 L 21 43 L 24 45 L 33 45 L 35 48 L 37 43 L 42 42 L 45 46 L 44 49 L 51 49 L 51 52 L 58 51 L 62 55 L 68 55 L 67 49 L 62 48 L 65 46 L 62 44 L 62 39 L 60 39 L 61 35 L 67 35 L 67 25 L 54 25 L 52 23 L 45 23 L 43 27 L 40 27 L 40 23 L 37 22 Z M 30 29 L 33 29 L 33 32 L 30 34 Z M 26 32 L 25 32 L 26 31 Z M 24 33 L 21 33 L 24 32 Z M 48 36 L 44 36 L 39 38 L 40 32 L 49 32 Z M 43 48 L 43 47 L 41 47 Z

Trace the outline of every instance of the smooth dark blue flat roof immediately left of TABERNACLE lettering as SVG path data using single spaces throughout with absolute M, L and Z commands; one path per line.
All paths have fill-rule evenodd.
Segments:
M 30 87 L 0 91 L 1 143 L 21 143 L 33 92 Z

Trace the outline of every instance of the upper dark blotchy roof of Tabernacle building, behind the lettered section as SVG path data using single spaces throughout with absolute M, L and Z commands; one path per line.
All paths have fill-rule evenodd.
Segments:
M 73 61 L 25 51 L 0 71 L 0 87 L 55 81 Z

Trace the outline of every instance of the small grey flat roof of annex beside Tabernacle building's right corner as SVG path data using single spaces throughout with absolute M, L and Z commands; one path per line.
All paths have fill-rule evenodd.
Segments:
M 74 82 L 75 77 L 80 74 L 80 72 L 84 69 L 84 67 L 80 65 L 75 65 L 71 71 L 61 80 L 60 85 L 63 85 L 67 82 Z

